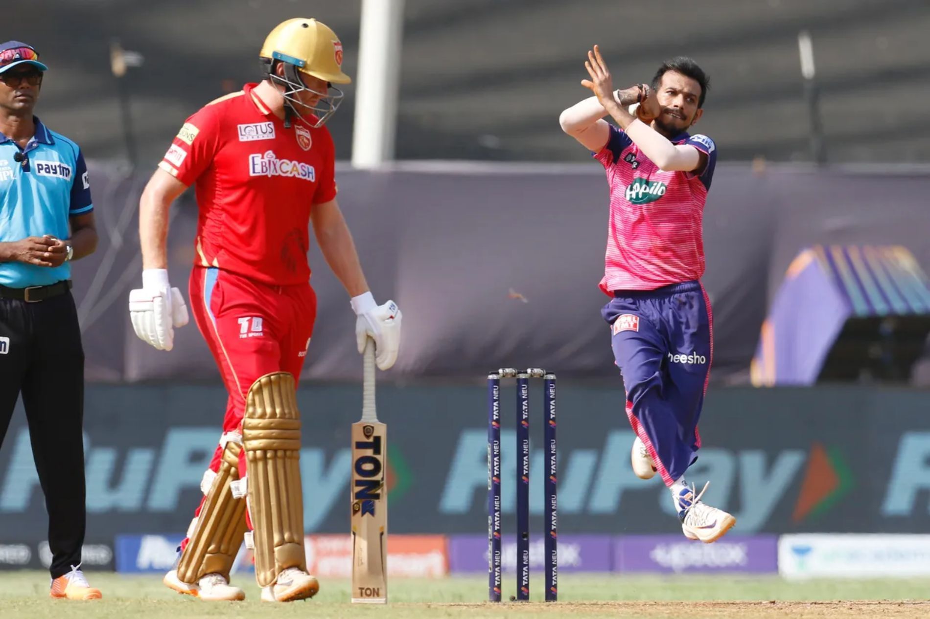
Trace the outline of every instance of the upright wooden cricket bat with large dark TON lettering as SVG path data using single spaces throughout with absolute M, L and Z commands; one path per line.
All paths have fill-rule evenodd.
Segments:
M 362 419 L 352 424 L 352 602 L 388 601 L 388 427 L 375 412 L 375 343 L 365 344 Z

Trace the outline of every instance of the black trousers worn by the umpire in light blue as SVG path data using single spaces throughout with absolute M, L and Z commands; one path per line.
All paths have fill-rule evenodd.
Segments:
M 57 578 L 81 562 L 86 523 L 84 348 L 70 292 L 37 303 L 0 298 L 0 445 L 20 393 Z

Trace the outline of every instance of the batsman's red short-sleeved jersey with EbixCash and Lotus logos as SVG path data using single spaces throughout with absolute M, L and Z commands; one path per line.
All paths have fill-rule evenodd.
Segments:
M 333 139 L 297 117 L 285 128 L 255 86 L 188 118 L 158 166 L 196 183 L 196 266 L 307 283 L 310 209 L 336 197 Z

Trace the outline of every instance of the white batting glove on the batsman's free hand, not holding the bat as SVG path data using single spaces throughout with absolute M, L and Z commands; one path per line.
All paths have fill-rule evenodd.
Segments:
M 188 322 L 178 288 L 168 283 L 166 269 L 142 271 L 142 287 L 129 292 L 129 318 L 136 335 L 158 350 L 174 348 L 174 329 Z

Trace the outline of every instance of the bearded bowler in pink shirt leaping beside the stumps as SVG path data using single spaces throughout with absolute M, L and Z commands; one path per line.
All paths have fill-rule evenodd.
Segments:
M 736 519 L 701 502 L 707 485 L 698 494 L 684 481 L 700 448 L 697 421 L 713 355 L 701 222 L 717 151 L 711 138 L 687 132 L 703 114 L 709 80 L 694 60 L 679 57 L 659 67 L 651 86 L 615 91 L 598 46 L 585 67 L 591 79 L 581 85 L 594 97 L 559 122 L 604 165 L 610 188 L 600 285 L 612 299 L 601 314 L 637 436 L 633 470 L 644 479 L 658 472 L 684 535 L 711 543 Z M 608 114 L 619 128 L 604 120 Z

